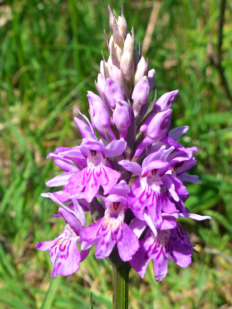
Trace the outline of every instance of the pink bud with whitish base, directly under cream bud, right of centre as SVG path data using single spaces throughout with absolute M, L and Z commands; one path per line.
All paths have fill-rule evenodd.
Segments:
M 143 76 L 135 85 L 131 99 L 135 117 L 139 114 L 141 106 L 146 104 L 149 95 L 149 83 L 147 76 Z

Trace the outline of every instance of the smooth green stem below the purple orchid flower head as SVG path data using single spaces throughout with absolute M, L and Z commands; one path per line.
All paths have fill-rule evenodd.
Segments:
M 123 262 L 118 268 L 113 267 L 113 309 L 128 309 L 130 265 Z

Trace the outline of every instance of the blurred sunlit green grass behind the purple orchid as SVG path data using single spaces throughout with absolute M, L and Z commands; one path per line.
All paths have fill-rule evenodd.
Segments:
M 78 108 L 88 114 L 87 91 L 96 93 L 101 50 L 107 55 L 104 28 L 110 36 L 108 4 L 118 14 L 123 5 L 137 48 L 146 37 L 157 96 L 179 90 L 172 127 L 189 125 L 181 142 L 199 146 L 191 174 L 202 181 L 187 185 L 191 197 L 186 206 L 212 216 L 210 222 L 182 220 L 200 251 L 187 269 L 170 261 L 160 283 L 154 280 L 152 262 L 143 280 L 131 270 L 129 308 L 227 309 L 231 4 L 224 0 L 1 1 L 1 308 L 85 309 L 90 291 L 94 308 L 111 308 L 111 267 L 96 260 L 94 248 L 77 273 L 51 279 L 49 254 L 35 247 L 54 239 L 64 226 L 53 218 L 57 205 L 40 196 L 49 191 L 45 181 L 59 173 L 45 157 L 58 146 L 81 141 L 73 117 Z M 148 21 L 155 28 L 145 35 Z

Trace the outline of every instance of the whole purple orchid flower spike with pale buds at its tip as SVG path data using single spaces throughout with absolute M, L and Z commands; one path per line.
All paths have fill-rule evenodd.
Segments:
M 186 173 L 196 162 L 197 147 L 177 142 L 187 126 L 170 130 L 178 90 L 157 101 L 155 91 L 148 103 L 155 70 L 148 70 L 141 47 L 136 50 L 123 10 L 119 17 L 110 7 L 109 13 L 113 35 L 110 40 L 105 36 L 110 55 L 101 61 L 98 95 L 87 95 L 91 122 L 80 112 L 83 120 L 74 118 L 82 143 L 58 147 L 47 157 L 64 173 L 46 185 L 64 188 L 41 195 L 61 206 L 54 216 L 63 217 L 66 225 L 56 239 L 38 242 L 37 248 L 49 251 L 52 277 L 77 271 L 96 244 L 96 258 L 108 258 L 113 265 L 117 259 L 129 261 L 141 277 L 153 259 L 154 277 L 160 281 L 169 258 L 187 267 L 197 252 L 177 219 L 210 218 L 190 214 L 184 206 L 189 194 L 183 181 L 200 183 Z M 89 226 L 85 212 L 92 218 Z

